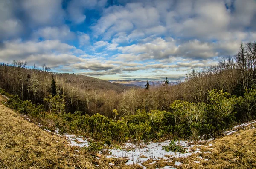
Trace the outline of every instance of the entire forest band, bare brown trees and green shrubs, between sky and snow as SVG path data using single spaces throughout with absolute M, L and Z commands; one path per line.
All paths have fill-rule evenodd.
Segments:
M 186 77 L 143 89 L 54 73 L 45 65 L 31 68 L 25 61 L 0 65 L 9 107 L 52 120 L 61 133 L 105 143 L 218 137 L 235 123 L 256 119 L 256 42 L 241 42 L 235 56 Z

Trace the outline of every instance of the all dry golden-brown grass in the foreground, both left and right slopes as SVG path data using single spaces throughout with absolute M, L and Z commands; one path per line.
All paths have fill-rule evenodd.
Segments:
M 0 96 L 1 97 L 1 96 Z M 256 168 L 256 129 L 245 130 L 212 141 L 213 149 L 201 146 L 201 151 L 211 154 L 192 155 L 175 159 L 182 166 L 176 168 L 249 169 Z M 202 156 L 209 161 L 199 160 Z M 201 163 L 194 163 L 195 160 Z M 84 149 L 76 152 L 64 137 L 46 132 L 33 123 L 24 120 L 18 113 L 0 104 L 0 168 L 140 168 L 125 166 L 126 160 L 97 160 Z M 109 166 L 115 163 L 116 166 Z M 163 167 L 164 163 L 148 168 Z

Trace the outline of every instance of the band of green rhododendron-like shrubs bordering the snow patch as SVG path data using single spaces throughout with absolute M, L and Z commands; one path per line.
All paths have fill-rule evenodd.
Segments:
M 118 112 L 113 109 L 114 119 L 100 114 L 89 116 L 81 111 L 65 113 L 63 99 L 49 95 L 47 103 L 60 133 L 81 131 L 87 137 L 111 144 L 115 141 L 158 140 L 163 137 L 198 139 L 200 136 L 221 135 L 224 129 L 230 128 L 236 120 L 256 118 L 256 88 L 245 89 L 244 97 L 229 97 L 229 93 L 213 89 L 209 91 L 208 103 L 176 100 L 170 105 L 170 112 L 151 110 L 140 111 L 117 120 Z M 45 116 L 43 105 L 36 106 L 31 101 L 21 101 L 13 96 L 8 100 L 12 109 L 34 117 Z M 236 114 L 236 112 L 238 112 Z M 101 147 L 92 143 L 90 150 Z M 166 151 L 183 151 L 174 143 L 163 147 Z

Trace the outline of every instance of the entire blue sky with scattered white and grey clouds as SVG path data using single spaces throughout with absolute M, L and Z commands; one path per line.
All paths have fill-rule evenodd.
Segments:
M 256 0 L 0 0 L 0 63 L 183 80 L 256 40 Z

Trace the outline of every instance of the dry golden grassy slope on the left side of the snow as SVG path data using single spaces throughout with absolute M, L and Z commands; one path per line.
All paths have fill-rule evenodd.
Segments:
M 110 162 L 128 168 L 126 160 L 97 160 L 84 149 L 76 152 L 64 137 L 40 129 L 0 104 L 0 169 L 94 169 L 96 164 L 110 169 Z

